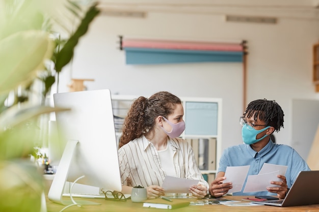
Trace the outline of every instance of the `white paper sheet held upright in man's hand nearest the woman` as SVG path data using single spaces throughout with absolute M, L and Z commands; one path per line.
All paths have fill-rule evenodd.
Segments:
M 249 167 L 250 165 L 226 167 L 226 179 L 223 181 L 223 183 L 232 182 L 232 189 L 229 189 L 228 193 L 242 191 Z

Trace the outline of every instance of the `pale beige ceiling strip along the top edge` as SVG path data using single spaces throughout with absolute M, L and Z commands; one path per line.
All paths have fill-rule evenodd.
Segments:
M 100 0 L 104 11 L 270 16 L 319 20 L 319 0 Z

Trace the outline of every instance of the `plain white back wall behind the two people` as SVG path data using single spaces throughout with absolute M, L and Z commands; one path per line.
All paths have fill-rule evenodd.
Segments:
M 69 77 L 92 78 L 88 89 L 110 88 L 121 95 L 149 96 L 168 90 L 180 97 L 223 99 L 222 148 L 242 143 L 242 64 L 203 63 L 125 65 L 118 35 L 172 40 L 247 40 L 247 101 L 276 100 L 285 112 L 284 129 L 276 140 L 291 144 L 291 100 L 319 99 L 312 85 L 312 45 L 318 41 L 319 21 L 280 18 L 277 24 L 225 22 L 223 14 L 149 12 L 146 18 L 99 16 L 76 48 Z

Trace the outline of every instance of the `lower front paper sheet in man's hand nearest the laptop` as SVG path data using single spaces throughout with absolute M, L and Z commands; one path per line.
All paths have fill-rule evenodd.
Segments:
M 281 180 L 277 177 L 278 174 L 279 171 L 266 174 L 248 175 L 244 192 L 267 191 L 268 187 L 278 187 L 270 183 L 271 181 Z

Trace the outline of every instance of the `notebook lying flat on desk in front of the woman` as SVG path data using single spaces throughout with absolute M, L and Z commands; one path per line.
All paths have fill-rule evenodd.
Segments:
M 187 200 L 172 199 L 172 201 L 169 202 L 162 198 L 149 199 L 143 203 L 143 207 L 161 208 L 161 209 L 175 209 L 179 207 L 185 207 L 188 205 L 190 205 L 190 201 L 187 201 Z

